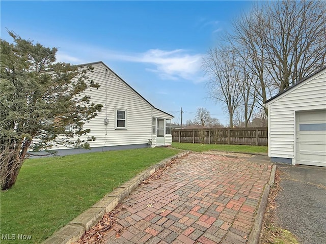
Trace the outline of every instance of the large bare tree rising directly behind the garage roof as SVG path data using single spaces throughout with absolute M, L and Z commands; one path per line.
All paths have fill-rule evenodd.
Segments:
M 224 40 L 258 79 L 260 104 L 325 65 L 324 16 L 322 1 L 276 1 L 257 4 L 233 22 Z

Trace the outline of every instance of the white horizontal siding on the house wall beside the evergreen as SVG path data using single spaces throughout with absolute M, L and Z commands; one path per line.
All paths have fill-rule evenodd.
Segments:
M 92 67 L 94 68 L 93 73 L 88 73 L 88 76 L 95 83 L 99 83 L 100 87 L 88 89 L 85 94 L 91 96 L 92 103 L 100 103 L 103 107 L 95 118 L 84 125 L 85 129 L 91 129 L 88 136 L 96 137 L 95 141 L 90 142 L 91 147 L 147 144 L 148 139 L 152 139 L 154 136 L 152 134 L 152 114 L 162 118 L 172 118 L 171 115 L 154 108 L 135 93 L 104 64 L 96 63 L 92 64 Z M 107 70 L 106 82 L 105 70 Z M 116 109 L 126 110 L 126 129 L 116 128 Z M 108 119 L 108 125 L 104 125 L 104 118 Z M 58 146 L 54 149 L 67 148 Z

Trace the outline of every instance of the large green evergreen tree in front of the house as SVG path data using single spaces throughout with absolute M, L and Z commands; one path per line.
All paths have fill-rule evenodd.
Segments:
M 57 48 L 24 40 L 9 32 L 13 43 L 1 39 L 0 161 L 1 189 L 10 189 L 28 158 L 28 151 L 63 144 L 89 148 L 86 121 L 101 104 L 90 102 L 86 89 L 92 67 L 56 62 Z M 71 128 L 67 130 L 67 127 Z

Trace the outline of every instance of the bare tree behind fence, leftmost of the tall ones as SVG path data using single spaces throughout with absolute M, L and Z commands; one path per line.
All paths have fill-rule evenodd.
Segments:
M 210 49 L 203 59 L 203 69 L 209 75 L 209 97 L 225 104 L 229 112 L 229 126 L 233 127 L 233 114 L 240 103 L 237 55 L 233 48 Z

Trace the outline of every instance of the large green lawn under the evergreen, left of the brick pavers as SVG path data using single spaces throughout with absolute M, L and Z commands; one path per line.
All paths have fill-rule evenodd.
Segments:
M 30 159 L 16 184 L 1 192 L 1 233 L 32 235 L 40 243 L 106 193 L 149 166 L 177 154 L 172 148 L 142 148 Z M 20 240 L 0 240 L 21 243 Z

